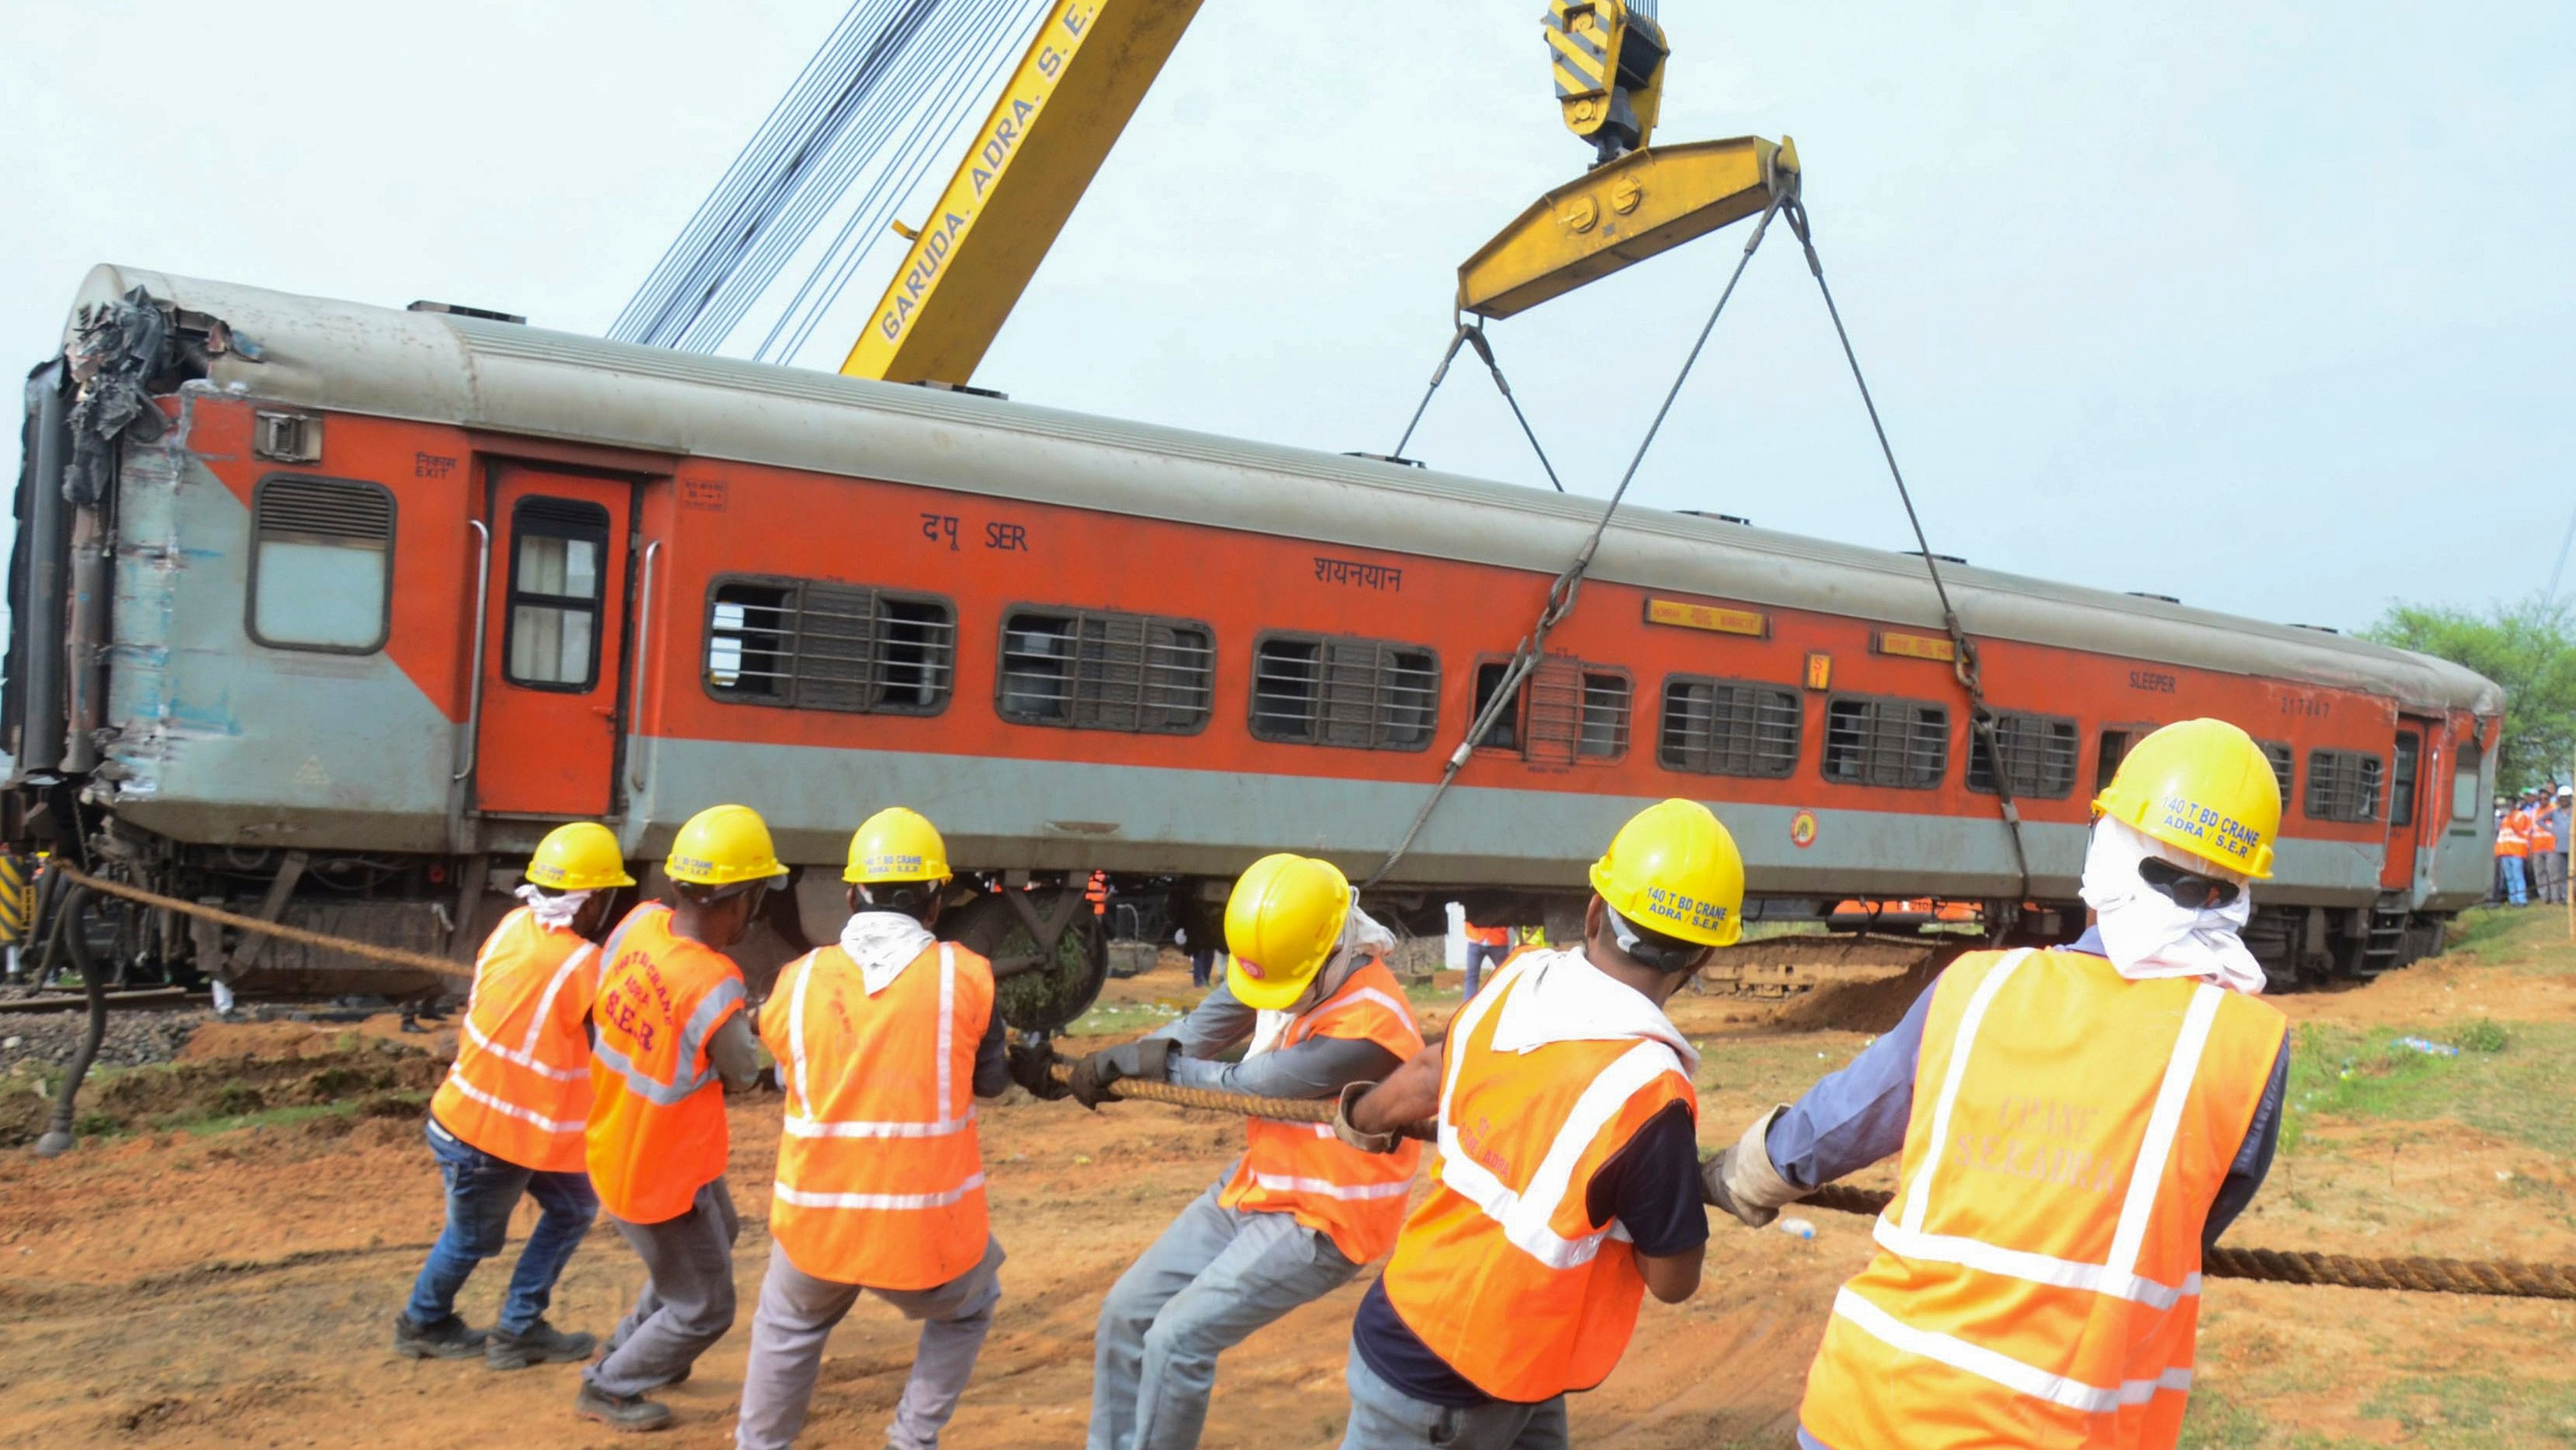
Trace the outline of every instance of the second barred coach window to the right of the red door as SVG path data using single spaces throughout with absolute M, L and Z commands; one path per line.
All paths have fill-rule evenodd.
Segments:
M 1018 724 L 1193 734 L 1216 693 L 1216 636 L 1180 618 L 1012 610 L 997 708 Z

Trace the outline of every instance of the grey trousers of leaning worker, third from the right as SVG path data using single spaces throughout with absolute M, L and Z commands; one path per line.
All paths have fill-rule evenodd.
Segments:
M 1288 1213 L 1221 1208 L 1226 1177 L 1193 1198 L 1100 1303 L 1090 1450 L 1198 1445 L 1216 1357 L 1360 1272 Z

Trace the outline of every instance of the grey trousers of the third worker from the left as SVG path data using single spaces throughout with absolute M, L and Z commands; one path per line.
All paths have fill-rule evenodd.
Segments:
M 935 1450 L 958 1396 L 974 1375 L 974 1360 L 992 1332 L 992 1306 L 1002 1301 L 1002 1244 L 984 1239 L 984 1262 L 938 1288 L 871 1288 L 904 1319 L 922 1321 L 912 1350 L 912 1378 L 894 1401 L 886 1445 L 894 1450 Z M 760 1280 L 760 1308 L 752 1311 L 752 1362 L 742 1370 L 742 1419 L 734 1422 L 739 1450 L 786 1450 L 804 1429 L 814 1406 L 814 1375 L 822 1347 L 860 1285 L 819 1280 L 788 1262 L 770 1244 L 770 1272 Z

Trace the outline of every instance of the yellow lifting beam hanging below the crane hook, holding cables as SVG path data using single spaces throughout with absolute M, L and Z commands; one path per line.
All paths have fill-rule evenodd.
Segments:
M 1458 309 L 1512 317 L 1798 193 L 1798 147 L 1649 147 L 1540 196 L 1458 268 Z

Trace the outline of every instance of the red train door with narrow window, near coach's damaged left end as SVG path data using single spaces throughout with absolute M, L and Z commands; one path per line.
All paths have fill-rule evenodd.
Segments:
M 492 466 L 474 804 L 531 816 L 608 814 L 626 626 L 623 479 Z

